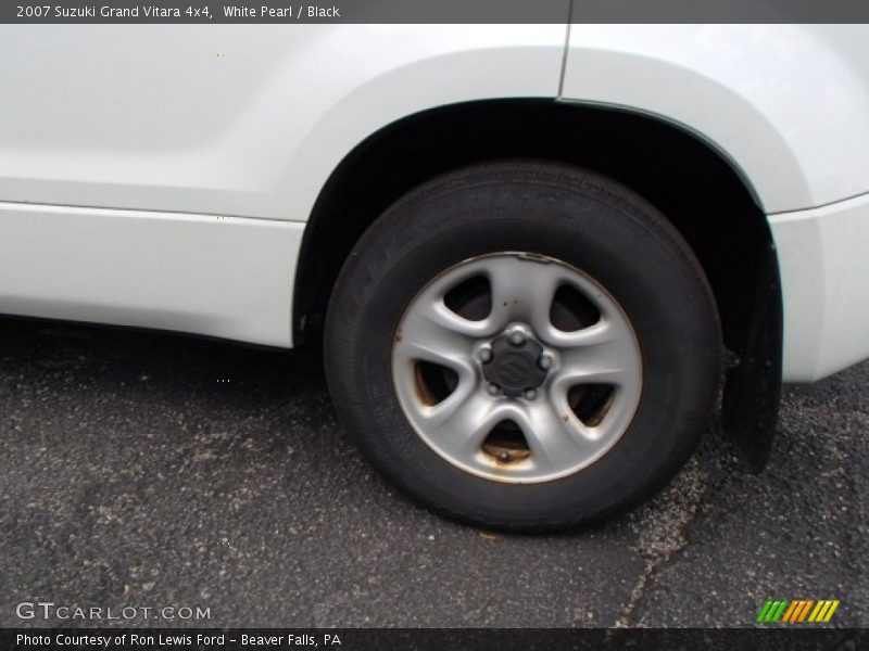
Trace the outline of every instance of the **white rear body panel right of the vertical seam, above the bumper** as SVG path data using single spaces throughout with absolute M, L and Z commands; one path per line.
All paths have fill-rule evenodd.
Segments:
M 862 25 L 572 25 L 563 95 L 683 125 L 767 213 L 869 191 Z

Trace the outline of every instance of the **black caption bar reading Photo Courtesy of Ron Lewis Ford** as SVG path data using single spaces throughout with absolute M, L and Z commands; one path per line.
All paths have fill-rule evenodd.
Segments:
M 867 629 L 450 629 L 450 628 L 28 628 L 0 629 L 0 649 L 15 651 L 263 651 L 340 649 L 367 651 L 502 651 L 516 649 L 769 649 L 781 651 L 867 648 Z

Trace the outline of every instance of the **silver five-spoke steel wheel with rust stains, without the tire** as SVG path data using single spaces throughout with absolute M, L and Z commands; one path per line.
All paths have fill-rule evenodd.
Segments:
M 449 305 L 480 279 L 486 316 Z M 584 320 L 563 329 L 556 305 Z M 570 475 L 616 444 L 640 401 L 642 363 L 630 321 L 601 284 L 555 258 L 505 252 L 451 267 L 411 299 L 392 381 L 411 425 L 443 459 L 527 484 Z

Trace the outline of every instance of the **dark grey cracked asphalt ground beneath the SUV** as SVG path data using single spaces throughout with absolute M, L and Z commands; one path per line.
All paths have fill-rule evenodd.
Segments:
M 383 483 L 314 353 L 9 318 L 0 342 L 0 626 L 58 625 L 22 601 L 210 609 L 121 622 L 152 626 L 744 626 L 769 598 L 869 626 L 869 363 L 785 391 L 764 473 L 710 431 L 639 510 L 522 537 Z

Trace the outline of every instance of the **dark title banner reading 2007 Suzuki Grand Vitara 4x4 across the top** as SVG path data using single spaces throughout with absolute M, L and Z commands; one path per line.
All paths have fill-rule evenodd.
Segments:
M 865 0 L 3 0 L 0 23 L 869 23 Z

